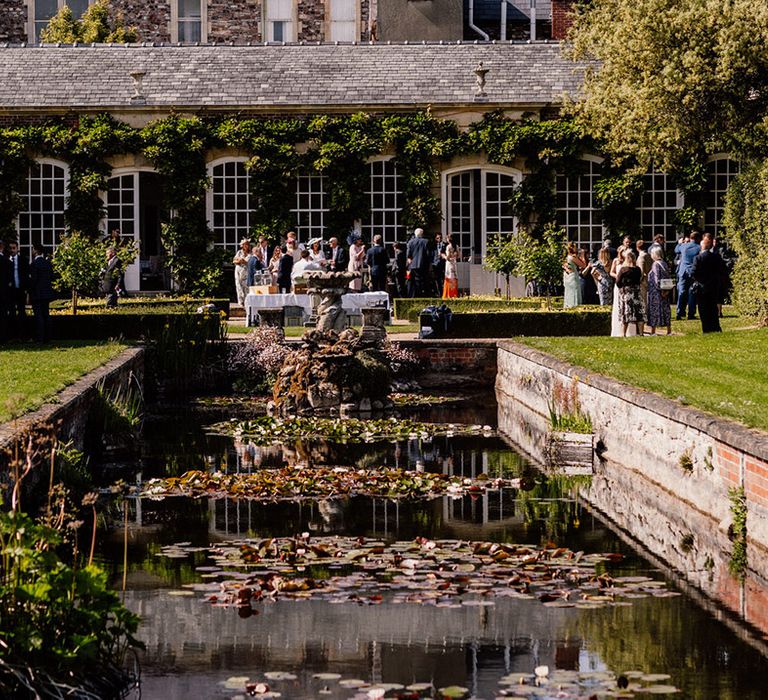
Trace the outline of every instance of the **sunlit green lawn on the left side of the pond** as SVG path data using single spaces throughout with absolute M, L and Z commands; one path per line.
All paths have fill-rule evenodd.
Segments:
M 79 340 L 0 346 L 0 422 L 35 410 L 126 347 Z

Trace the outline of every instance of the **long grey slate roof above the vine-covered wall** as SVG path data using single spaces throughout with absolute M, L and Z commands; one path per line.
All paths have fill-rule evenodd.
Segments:
M 490 105 L 557 103 L 580 84 L 554 43 L 5 46 L 0 111 L 471 104 L 478 61 Z

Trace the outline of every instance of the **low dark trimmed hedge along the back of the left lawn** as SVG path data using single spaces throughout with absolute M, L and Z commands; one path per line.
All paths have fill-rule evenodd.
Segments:
M 108 340 L 124 338 L 142 340 L 158 336 L 171 319 L 179 314 L 131 314 L 124 313 L 89 313 L 51 316 L 51 337 L 54 340 Z M 202 314 L 201 314 L 202 317 Z M 209 323 L 220 323 L 221 317 L 209 315 Z

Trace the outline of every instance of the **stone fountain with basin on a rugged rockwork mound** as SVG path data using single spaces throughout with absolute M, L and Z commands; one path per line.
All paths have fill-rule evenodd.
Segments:
M 310 294 L 319 297 L 317 324 L 278 374 L 270 410 L 274 415 L 367 413 L 392 407 L 391 375 L 382 352 L 386 309 L 363 310 L 363 331 L 347 328 L 341 298 L 353 272 L 312 272 Z

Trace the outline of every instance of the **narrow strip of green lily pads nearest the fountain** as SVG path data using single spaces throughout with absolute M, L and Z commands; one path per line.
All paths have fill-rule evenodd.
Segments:
M 289 439 L 322 438 L 334 442 L 351 443 L 375 440 L 428 440 L 441 435 L 487 437 L 494 433 L 493 429 L 487 425 L 419 423 L 398 418 L 359 420 L 357 418 L 297 417 L 284 420 L 270 416 L 216 423 L 210 426 L 209 430 L 214 434 L 248 438 L 256 445 L 279 445 Z

